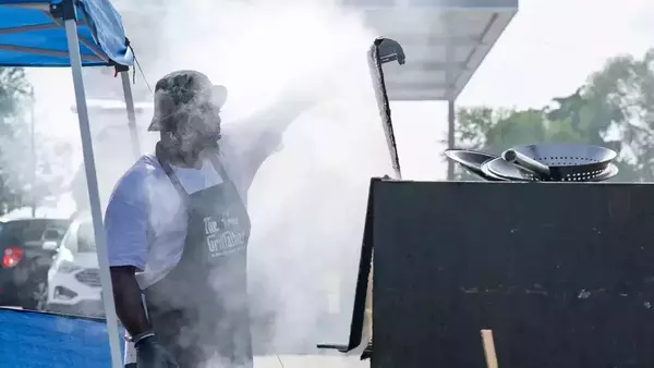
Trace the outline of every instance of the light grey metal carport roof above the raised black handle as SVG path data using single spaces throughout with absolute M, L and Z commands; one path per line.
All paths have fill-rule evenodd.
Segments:
M 518 0 L 343 0 L 399 41 L 407 63 L 385 65 L 391 100 L 453 100 L 513 15 Z

